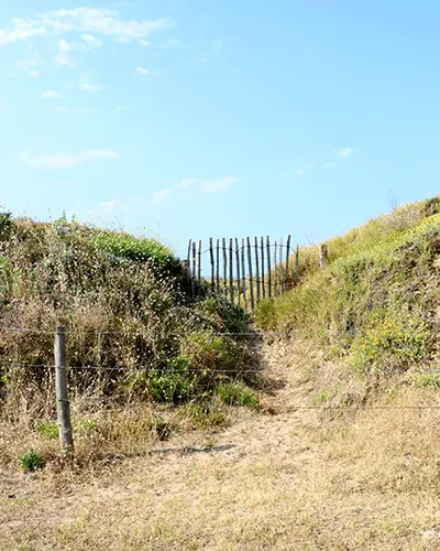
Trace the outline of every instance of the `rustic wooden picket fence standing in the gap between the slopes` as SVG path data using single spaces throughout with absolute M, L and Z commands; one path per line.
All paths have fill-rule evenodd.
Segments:
M 209 262 L 204 262 L 205 255 Z M 290 236 L 286 245 L 283 238 L 271 244 L 268 236 L 246 237 L 241 247 L 238 238 L 223 237 L 216 242 L 210 238 L 205 250 L 201 240 L 189 240 L 186 263 L 195 296 L 220 295 L 244 311 L 253 310 L 261 299 L 283 294 L 299 281 L 299 246 L 292 248 Z M 204 266 L 209 277 L 204 277 Z

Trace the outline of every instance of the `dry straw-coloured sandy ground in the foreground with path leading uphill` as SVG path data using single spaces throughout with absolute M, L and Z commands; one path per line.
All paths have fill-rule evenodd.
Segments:
M 411 449 L 416 413 L 384 411 L 348 429 L 295 409 L 310 406 L 305 366 L 288 346 L 273 350 L 282 388 L 264 414 L 243 411 L 215 436 L 176 436 L 87 478 L 1 473 L 0 548 L 440 549 L 440 463 L 436 450 Z M 320 361 L 314 354 L 306 369 Z M 387 414 L 391 439 L 377 429 Z M 432 420 L 420 419 L 430 442 Z

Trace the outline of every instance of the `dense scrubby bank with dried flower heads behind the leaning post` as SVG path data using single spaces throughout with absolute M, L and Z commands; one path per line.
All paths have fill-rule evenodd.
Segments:
M 40 420 L 33 432 L 56 436 L 57 325 L 67 332 L 74 410 L 79 401 L 95 400 L 88 402 L 95 403 L 89 417 L 74 412 L 77 434 L 97 434 L 99 404 L 188 402 L 187 419 L 202 425 L 224 422 L 230 403 L 254 403 L 245 386 L 228 386 L 249 380 L 252 355 L 249 339 L 240 336 L 248 317 L 215 298 L 193 299 L 187 287 L 185 269 L 156 240 L 65 218 L 41 224 L 1 215 L 0 417 L 28 424 Z M 130 437 L 145 414 L 143 433 L 169 432 L 154 410 L 138 411 L 138 419 L 130 409 L 120 414 Z M 106 441 L 119 437 L 120 428 L 110 421 L 109 415 L 99 421 Z

